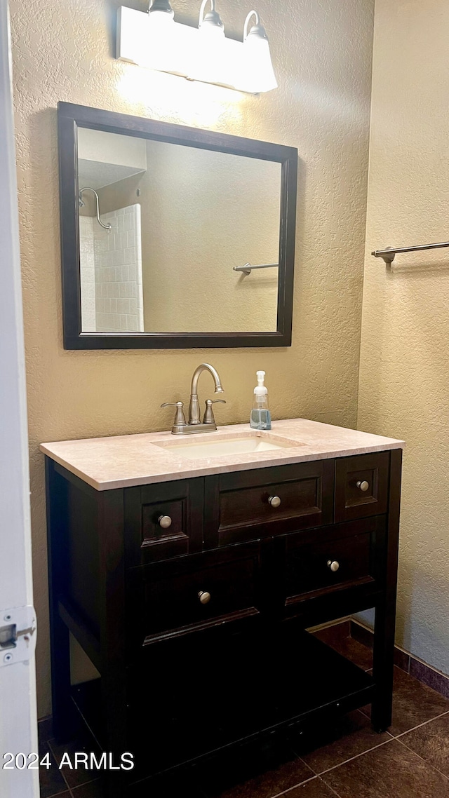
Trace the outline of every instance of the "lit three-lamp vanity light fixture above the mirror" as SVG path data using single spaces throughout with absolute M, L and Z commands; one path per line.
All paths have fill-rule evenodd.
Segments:
M 169 0 L 153 0 L 147 13 L 121 6 L 117 58 L 248 93 L 276 89 L 267 34 L 256 11 L 244 22 L 244 41 L 226 38 L 216 0 L 202 0 L 197 28 L 173 16 Z M 252 17 L 255 23 L 248 30 Z

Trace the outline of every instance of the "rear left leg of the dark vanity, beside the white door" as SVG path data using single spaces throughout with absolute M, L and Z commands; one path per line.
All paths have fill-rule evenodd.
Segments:
M 51 497 L 51 498 L 50 498 Z M 68 574 L 68 546 L 65 521 L 66 481 L 46 457 L 46 512 L 49 551 L 49 604 L 51 685 L 54 736 L 59 743 L 69 741 L 77 729 L 77 717 L 71 699 L 70 635 L 59 615 L 59 597 L 63 595 Z

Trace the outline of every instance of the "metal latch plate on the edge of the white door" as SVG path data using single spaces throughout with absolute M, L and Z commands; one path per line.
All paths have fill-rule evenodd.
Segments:
M 0 668 L 31 659 L 36 649 L 36 634 L 34 606 L 0 610 Z

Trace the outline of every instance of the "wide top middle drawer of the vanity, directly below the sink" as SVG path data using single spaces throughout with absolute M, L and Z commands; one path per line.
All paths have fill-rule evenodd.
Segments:
M 334 461 L 258 468 L 205 479 L 205 545 L 332 523 Z

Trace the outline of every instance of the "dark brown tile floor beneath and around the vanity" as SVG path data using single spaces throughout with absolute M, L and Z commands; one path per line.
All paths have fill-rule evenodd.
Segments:
M 372 652 L 349 636 L 348 626 L 318 633 L 320 639 L 369 670 Z M 67 751 L 73 760 L 82 744 L 58 746 L 46 721 L 40 725 L 41 796 L 104 798 L 97 772 L 58 768 Z M 216 759 L 169 779 L 154 781 L 147 798 L 449 798 L 449 699 L 395 668 L 393 722 L 376 734 L 369 707 L 349 713 L 307 735 L 247 745 L 221 767 Z

